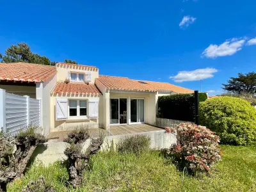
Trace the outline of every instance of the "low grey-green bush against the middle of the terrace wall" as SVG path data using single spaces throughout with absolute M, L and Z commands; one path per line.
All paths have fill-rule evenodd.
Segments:
M 145 135 L 135 135 L 120 140 L 117 144 L 117 151 L 120 153 L 139 154 L 150 147 L 150 138 Z

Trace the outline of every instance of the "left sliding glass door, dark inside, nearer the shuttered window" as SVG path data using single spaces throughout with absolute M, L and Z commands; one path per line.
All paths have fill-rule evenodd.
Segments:
M 127 99 L 110 99 L 110 124 L 127 124 Z

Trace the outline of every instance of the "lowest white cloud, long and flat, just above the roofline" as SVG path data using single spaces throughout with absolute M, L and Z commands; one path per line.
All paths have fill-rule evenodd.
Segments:
M 183 70 L 180 71 L 177 76 L 170 77 L 175 82 L 183 82 L 183 81 L 199 81 L 201 79 L 208 79 L 213 77 L 213 74 L 218 72 L 216 68 L 198 68 L 196 70 Z

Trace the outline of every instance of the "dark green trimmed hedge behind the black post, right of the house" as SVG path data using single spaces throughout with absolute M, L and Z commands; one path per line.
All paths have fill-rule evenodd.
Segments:
M 207 99 L 206 93 L 199 93 L 199 102 Z M 195 121 L 195 95 L 175 94 L 158 97 L 157 117 L 174 120 Z

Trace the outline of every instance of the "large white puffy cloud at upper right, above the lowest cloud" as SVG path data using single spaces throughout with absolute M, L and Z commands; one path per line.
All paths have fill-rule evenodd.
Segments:
M 223 44 L 220 45 L 209 45 L 204 52 L 203 56 L 207 58 L 217 58 L 221 56 L 230 56 L 235 54 L 237 51 L 240 51 L 244 45 L 244 39 L 232 38 L 231 40 L 226 40 Z

